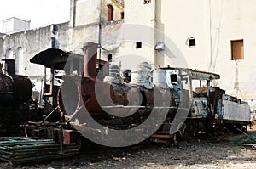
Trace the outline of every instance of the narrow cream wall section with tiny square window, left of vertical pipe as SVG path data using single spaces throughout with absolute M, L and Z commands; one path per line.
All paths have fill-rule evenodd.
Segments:
M 124 6 L 122 42 L 114 61 L 122 61 L 124 69 L 136 69 L 137 64 L 142 61 L 148 61 L 154 67 L 155 0 L 148 4 L 143 1 L 125 0 Z M 136 48 L 137 42 L 142 42 L 142 48 Z

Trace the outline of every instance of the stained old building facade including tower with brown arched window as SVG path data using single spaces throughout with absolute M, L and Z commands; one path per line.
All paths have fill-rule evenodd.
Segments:
M 5 59 L 14 59 L 15 74 L 28 76 L 36 84 L 34 90 L 40 91 L 44 66 L 30 63 L 33 56 L 47 48 L 83 54 L 84 42 L 98 43 L 99 36 L 104 37 L 99 33 L 101 27 L 123 16 L 123 0 L 70 0 L 70 20 L 65 23 L 1 34 L 1 63 L 4 65 Z M 99 53 L 102 59 L 105 53 Z

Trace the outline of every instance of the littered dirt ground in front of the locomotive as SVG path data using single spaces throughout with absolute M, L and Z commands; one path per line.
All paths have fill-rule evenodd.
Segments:
M 256 127 L 248 134 L 256 136 Z M 256 168 L 256 150 L 240 144 L 248 141 L 245 134 L 222 134 L 214 137 L 183 138 L 177 147 L 144 143 L 123 149 L 83 150 L 78 156 L 15 166 L 15 168 Z M 0 168 L 13 168 L 1 161 Z

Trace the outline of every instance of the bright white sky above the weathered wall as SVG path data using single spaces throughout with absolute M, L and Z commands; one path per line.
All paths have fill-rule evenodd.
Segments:
M 1 1 L 0 25 L 10 17 L 30 20 L 30 28 L 59 24 L 69 20 L 70 0 L 3 0 Z

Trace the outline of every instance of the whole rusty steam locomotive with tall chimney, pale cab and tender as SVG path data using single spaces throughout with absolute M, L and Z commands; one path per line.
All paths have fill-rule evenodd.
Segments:
M 96 51 L 97 44 L 86 43 L 84 56 L 51 48 L 31 59 L 32 63 L 51 69 L 51 84 L 44 97 L 52 100 L 52 110 L 43 121 L 26 124 L 27 136 L 79 143 L 84 128 L 84 132 L 104 139 L 108 132 L 91 127 L 84 110 L 105 129 L 116 130 L 140 126 L 157 110 L 158 115 L 151 118 L 152 126 L 137 132 L 145 133 L 155 127 L 157 118 L 163 118 L 154 133 L 146 131 L 148 138 L 161 143 L 175 143 L 177 135 L 184 132 L 195 135 L 223 129 L 247 130 L 249 106 L 226 95 L 224 90 L 211 87 L 211 81 L 220 78 L 217 74 L 169 66 L 152 71 L 143 62 L 137 70 L 125 70 L 121 76 L 117 65 L 109 66 L 96 59 Z M 64 82 L 57 89 L 53 83 L 55 70 L 65 71 L 61 76 Z M 195 92 L 194 81 L 200 84 Z M 47 122 L 55 113 L 61 118 Z

